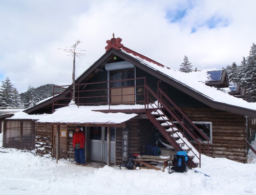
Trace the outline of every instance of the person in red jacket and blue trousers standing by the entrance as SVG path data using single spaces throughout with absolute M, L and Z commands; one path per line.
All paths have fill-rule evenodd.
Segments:
M 84 156 L 84 143 L 86 141 L 86 137 L 84 133 L 81 131 L 80 126 L 76 126 L 76 132 L 73 135 L 73 147 L 75 148 L 75 159 L 76 165 L 81 164 L 84 166 L 84 162 L 86 161 Z

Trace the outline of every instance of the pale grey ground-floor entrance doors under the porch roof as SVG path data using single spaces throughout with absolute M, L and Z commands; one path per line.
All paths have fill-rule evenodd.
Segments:
M 116 131 L 115 127 L 110 127 L 111 132 L 111 163 L 115 163 Z M 90 127 L 90 160 L 106 162 L 107 154 L 107 128 L 101 126 Z

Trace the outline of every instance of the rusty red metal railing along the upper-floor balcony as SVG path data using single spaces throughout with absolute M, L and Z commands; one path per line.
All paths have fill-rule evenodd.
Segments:
M 56 105 L 118 105 L 145 104 L 146 78 L 121 79 L 113 81 L 91 82 L 61 85 L 53 87 L 52 111 Z M 63 92 L 56 92 L 61 89 Z M 75 93 L 75 101 L 72 94 Z

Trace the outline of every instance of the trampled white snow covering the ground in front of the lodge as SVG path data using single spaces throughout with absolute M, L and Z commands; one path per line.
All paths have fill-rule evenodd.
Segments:
M 255 146 L 256 144 L 254 144 Z M 34 156 L 0 148 L 0 194 L 256 194 L 256 156 L 250 164 L 202 156 L 209 175 L 168 174 L 157 170 L 127 170 L 77 166 L 69 160 Z

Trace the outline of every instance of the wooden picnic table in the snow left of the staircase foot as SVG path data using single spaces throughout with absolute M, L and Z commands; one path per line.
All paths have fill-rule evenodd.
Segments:
M 149 168 L 152 168 L 154 170 L 161 170 L 160 168 L 151 165 L 150 162 L 163 162 L 163 172 L 166 166 L 168 166 L 168 161 L 173 160 L 170 159 L 170 156 L 147 156 L 147 155 L 142 155 L 138 159 L 134 159 L 135 161 L 135 166 L 138 166 L 138 164 L 143 164 Z

